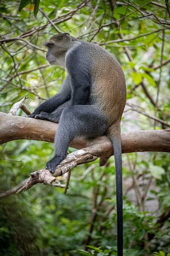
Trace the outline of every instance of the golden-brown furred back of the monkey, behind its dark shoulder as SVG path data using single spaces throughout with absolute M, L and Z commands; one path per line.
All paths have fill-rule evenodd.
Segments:
M 91 43 L 84 47 L 92 74 L 88 104 L 96 105 L 114 123 L 122 116 L 126 102 L 123 70 L 116 58 L 102 47 Z

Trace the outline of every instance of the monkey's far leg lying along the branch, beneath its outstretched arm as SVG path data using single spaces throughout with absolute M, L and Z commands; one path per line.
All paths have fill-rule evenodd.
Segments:
M 59 123 L 63 110 L 70 105 L 71 105 L 71 101 L 67 101 L 64 104 L 60 105 L 52 113 L 41 112 L 40 114 L 35 116 L 35 119 L 42 119 L 42 120 L 48 120 L 54 123 Z

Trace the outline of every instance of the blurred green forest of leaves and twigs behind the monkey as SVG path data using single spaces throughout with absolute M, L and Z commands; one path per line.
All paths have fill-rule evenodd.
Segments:
M 19 12 L 20 1 L 0 1 L 2 112 L 26 96 L 34 111 L 59 91 L 66 70 L 49 66 L 42 43 L 69 32 L 102 46 L 120 62 L 127 84 L 121 132 L 170 127 L 167 0 L 44 0 L 34 1 L 35 8 L 24 2 L 28 5 Z M 26 116 L 22 110 L 17 115 Z M 2 144 L 0 152 L 1 255 L 116 255 L 113 156 L 103 167 L 96 160 L 73 169 L 67 194 L 40 184 L 7 195 L 45 167 L 53 144 L 16 140 Z M 124 255 L 163 256 L 170 247 L 169 153 L 134 152 L 122 158 Z

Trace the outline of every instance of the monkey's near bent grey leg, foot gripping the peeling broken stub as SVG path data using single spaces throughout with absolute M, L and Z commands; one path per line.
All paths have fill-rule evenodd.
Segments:
M 108 128 L 104 114 L 93 106 L 76 105 L 63 110 L 55 135 L 55 155 L 46 164 L 51 173 L 66 157 L 70 142 L 76 136 L 95 138 L 103 135 Z

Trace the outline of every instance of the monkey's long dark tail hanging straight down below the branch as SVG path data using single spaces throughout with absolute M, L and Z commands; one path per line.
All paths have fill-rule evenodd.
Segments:
M 113 134 L 113 133 L 112 133 Z M 122 157 L 121 136 L 116 129 L 114 135 L 108 134 L 114 149 L 116 167 L 116 206 L 117 206 L 117 256 L 123 255 L 123 199 L 122 199 Z

